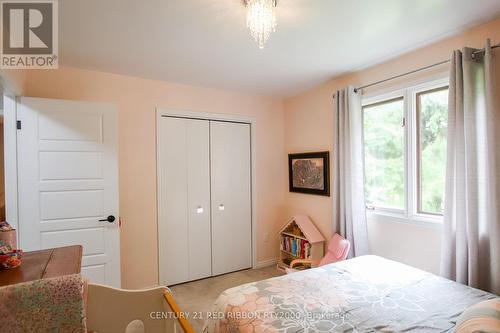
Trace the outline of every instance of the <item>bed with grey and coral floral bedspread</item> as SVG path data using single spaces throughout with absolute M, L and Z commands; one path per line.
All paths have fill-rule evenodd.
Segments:
M 497 296 L 377 256 L 224 291 L 203 332 L 450 332 Z

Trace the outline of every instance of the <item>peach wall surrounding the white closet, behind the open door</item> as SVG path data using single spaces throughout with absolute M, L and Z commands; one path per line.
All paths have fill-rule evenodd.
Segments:
M 281 100 L 62 68 L 28 71 L 22 95 L 105 101 L 119 109 L 121 270 L 124 288 L 158 283 L 155 107 L 256 119 L 257 260 L 276 257 L 286 190 Z M 270 240 L 264 242 L 264 233 Z

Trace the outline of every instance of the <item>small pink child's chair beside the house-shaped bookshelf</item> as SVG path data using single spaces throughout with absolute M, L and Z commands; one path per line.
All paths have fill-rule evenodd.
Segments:
M 313 259 L 295 259 L 290 263 L 290 268 L 286 268 L 287 273 L 293 273 L 299 271 L 293 268 L 297 265 L 309 265 L 310 267 L 318 267 L 328 264 L 333 264 L 338 261 L 347 259 L 349 254 L 349 249 L 351 248 L 351 243 L 340 236 L 339 234 L 334 234 L 330 243 L 328 244 L 328 249 L 326 254 L 321 260 Z

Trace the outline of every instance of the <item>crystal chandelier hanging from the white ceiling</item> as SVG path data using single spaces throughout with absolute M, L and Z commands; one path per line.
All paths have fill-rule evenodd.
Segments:
M 248 8 L 247 27 L 253 39 L 259 44 L 259 49 L 263 49 L 271 32 L 276 30 L 274 8 L 277 0 L 246 0 L 245 2 Z

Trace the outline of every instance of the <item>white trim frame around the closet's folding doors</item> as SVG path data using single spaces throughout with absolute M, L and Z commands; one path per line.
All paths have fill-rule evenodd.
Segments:
M 256 225 L 256 216 L 257 216 L 257 182 L 256 182 L 256 137 L 254 133 L 256 133 L 257 120 L 253 117 L 243 116 L 243 115 L 234 115 L 234 114 L 225 114 L 225 113 L 212 113 L 212 112 L 197 112 L 197 111 L 187 111 L 182 109 L 170 109 L 170 108 L 162 108 L 156 107 L 156 234 L 158 240 L 158 282 L 160 281 L 160 205 L 159 205 L 159 197 L 160 197 L 160 182 L 158 178 L 158 170 L 160 167 L 160 151 L 159 147 L 159 129 L 160 129 L 160 120 L 162 117 L 177 117 L 177 118 L 187 118 L 187 119 L 197 119 L 197 120 L 212 120 L 212 121 L 227 121 L 234 123 L 245 123 L 250 125 L 250 186 L 251 186 L 251 228 L 252 228 L 252 268 L 257 268 L 257 225 Z

